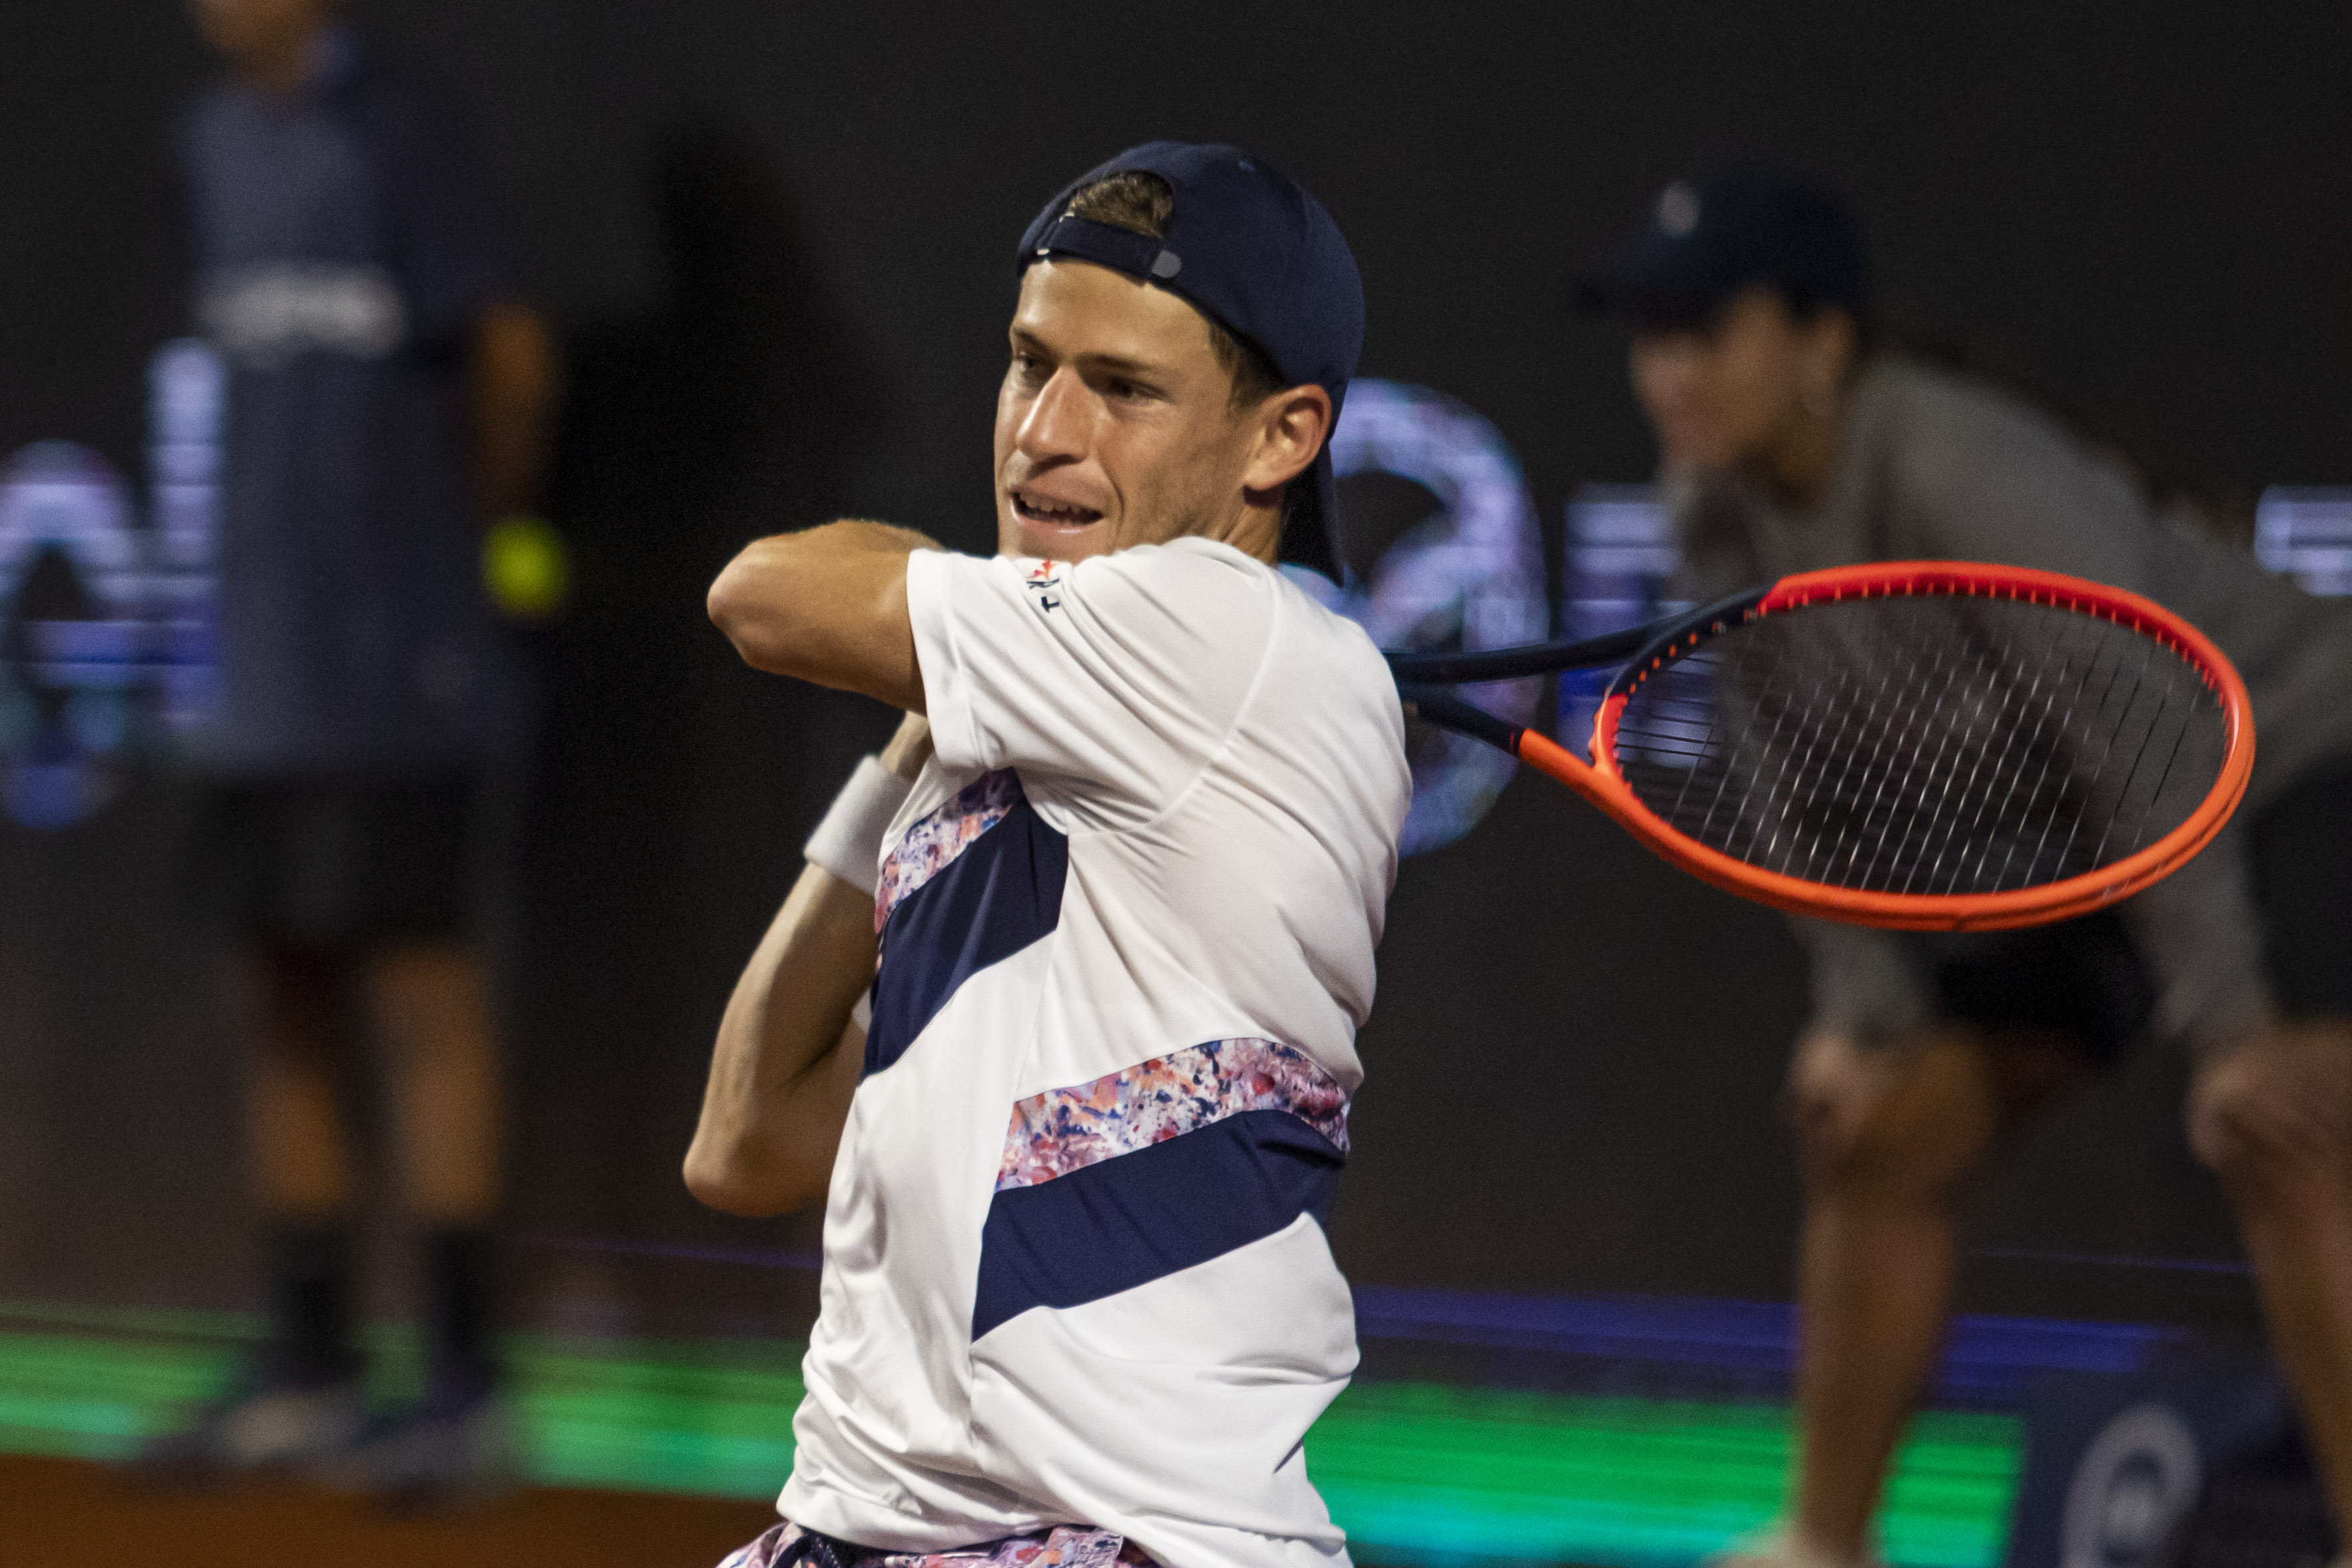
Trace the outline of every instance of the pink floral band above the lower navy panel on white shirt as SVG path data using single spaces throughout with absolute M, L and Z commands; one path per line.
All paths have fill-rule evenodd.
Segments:
M 997 1192 L 1035 1187 L 1244 1110 L 1287 1110 L 1348 1152 L 1348 1095 L 1315 1058 L 1272 1039 L 1211 1039 L 1014 1103 Z

